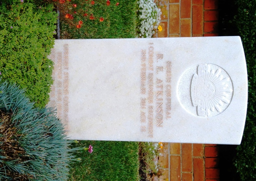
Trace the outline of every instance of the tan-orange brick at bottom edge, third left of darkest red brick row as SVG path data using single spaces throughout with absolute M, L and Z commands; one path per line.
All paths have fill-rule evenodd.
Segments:
M 170 180 L 181 181 L 180 175 L 180 156 L 170 156 Z

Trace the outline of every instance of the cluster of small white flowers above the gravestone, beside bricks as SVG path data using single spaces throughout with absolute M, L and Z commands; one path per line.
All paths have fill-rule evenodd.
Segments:
M 139 0 L 139 38 L 151 38 L 160 23 L 161 10 L 153 0 Z

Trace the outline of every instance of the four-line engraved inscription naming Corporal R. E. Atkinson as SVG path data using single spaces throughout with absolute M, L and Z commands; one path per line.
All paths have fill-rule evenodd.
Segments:
M 141 49 L 140 62 L 140 130 L 153 138 L 154 130 L 171 118 L 171 61 L 164 60 L 164 54 L 149 43 L 147 49 Z

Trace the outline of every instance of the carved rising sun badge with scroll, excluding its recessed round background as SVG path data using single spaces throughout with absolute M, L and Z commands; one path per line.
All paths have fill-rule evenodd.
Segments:
M 233 85 L 229 75 L 214 64 L 200 64 L 191 80 L 191 101 L 197 115 L 204 117 L 222 113 L 230 104 Z

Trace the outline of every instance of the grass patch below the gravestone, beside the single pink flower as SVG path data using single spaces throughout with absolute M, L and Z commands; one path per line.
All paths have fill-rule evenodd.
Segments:
M 139 180 L 138 142 L 80 141 L 77 146 L 93 146 L 90 154 L 82 150 L 81 158 L 70 171 L 70 181 Z

